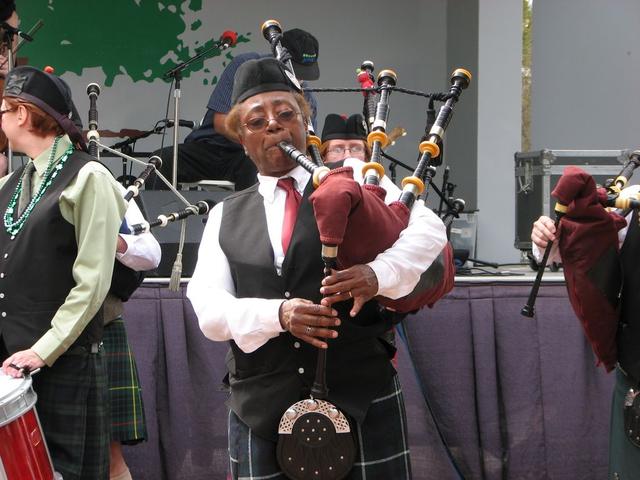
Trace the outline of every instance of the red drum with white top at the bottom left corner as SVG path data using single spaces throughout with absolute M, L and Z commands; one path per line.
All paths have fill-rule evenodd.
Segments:
M 0 372 L 0 480 L 52 480 L 53 465 L 36 414 L 31 377 Z

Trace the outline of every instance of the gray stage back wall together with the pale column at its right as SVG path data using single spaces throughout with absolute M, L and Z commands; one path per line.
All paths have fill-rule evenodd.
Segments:
M 53 1 L 55 8 L 52 11 L 60 13 L 63 7 L 71 8 L 70 0 Z M 265 20 L 274 18 L 285 29 L 301 27 L 318 38 L 321 77 L 312 82 L 312 87 L 358 86 L 355 69 L 365 59 L 375 63 L 376 71 L 395 70 L 399 86 L 425 92 L 448 91 L 449 77 L 455 68 L 470 70 L 473 81 L 461 96 L 447 130 L 445 161 L 452 168 L 450 180 L 458 185 L 455 195 L 467 201 L 468 209 L 480 210 L 476 257 L 498 262 L 517 259 L 518 252 L 513 248 L 512 158 L 520 148 L 519 0 L 396 0 L 393 3 L 327 0 L 322 8 L 299 0 L 202 3 L 201 10 L 184 14 L 187 25 L 199 21 L 202 28 L 187 28 L 179 37 L 191 55 L 195 53 L 193 48 L 197 42 L 203 44 L 228 29 L 251 39 L 249 43 L 239 44 L 233 50 L 234 54 L 266 52 L 268 45 L 259 28 Z M 126 5 L 119 4 L 118 8 L 129 8 Z M 188 10 L 188 5 L 189 2 L 184 2 L 182 8 Z M 55 18 L 53 20 L 47 20 L 43 32 L 54 28 Z M 150 35 L 149 26 L 133 28 L 125 34 L 114 33 L 113 25 L 95 23 L 96 29 L 103 27 L 105 33 L 98 34 L 98 39 L 117 35 L 131 49 L 141 48 L 143 43 L 149 47 L 145 37 Z M 160 27 L 151 33 L 157 36 L 158 30 Z M 100 65 L 101 52 L 110 52 L 104 45 L 96 47 L 95 52 L 92 50 L 95 61 L 89 65 Z M 111 53 L 113 57 L 113 51 Z M 109 61 L 113 62 L 113 58 Z M 55 58 L 51 62 L 55 64 Z M 182 81 L 180 118 L 195 120 L 202 117 L 212 89 L 207 82 L 222 72 L 225 62 L 228 60 L 222 56 L 211 58 L 204 62 L 205 69 L 193 72 Z M 155 68 L 158 69 L 158 65 Z M 122 70 L 126 71 L 126 68 Z M 104 85 L 104 72 L 92 66 L 78 69 L 77 73 L 63 73 L 63 77 L 70 83 L 80 113 L 86 118 L 86 85 L 90 82 Z M 119 75 L 112 86 L 103 88 L 98 100 L 99 127 L 114 131 L 151 129 L 166 116 L 168 94 L 169 85 L 161 80 L 133 82 L 127 75 Z M 362 110 L 359 93 L 318 93 L 317 98 L 319 131 L 328 113 L 349 114 Z M 408 133 L 390 147 L 388 153 L 414 166 L 417 146 L 424 132 L 427 101 L 396 92 L 390 102 L 389 128 L 401 126 Z M 180 138 L 187 133 L 181 129 Z M 102 140 L 104 144 L 112 145 L 120 139 L 103 137 Z M 160 147 L 160 141 L 158 135 L 142 140 L 137 151 L 155 150 Z M 165 145 L 170 142 L 169 137 L 165 139 Z M 105 162 L 114 169 L 121 168 L 119 160 L 105 159 Z M 408 173 L 400 168 L 398 181 Z M 442 169 L 436 177 L 438 185 L 441 175 Z M 431 205 L 438 201 L 434 193 L 429 200 Z

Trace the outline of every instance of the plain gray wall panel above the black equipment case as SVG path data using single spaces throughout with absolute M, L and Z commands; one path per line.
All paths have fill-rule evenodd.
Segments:
M 638 146 L 640 2 L 535 0 L 534 150 Z

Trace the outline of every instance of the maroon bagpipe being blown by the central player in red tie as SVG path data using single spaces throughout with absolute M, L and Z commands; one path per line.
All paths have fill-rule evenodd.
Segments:
M 407 227 L 414 202 L 420 195 L 428 194 L 427 187 L 435 175 L 431 159 L 439 153 L 437 142 L 442 139 L 453 112 L 453 105 L 462 90 L 468 86 L 471 75 L 464 69 L 453 72 L 450 97 L 431 128 L 430 138 L 419 146 L 421 157 L 414 174 L 403 180 L 400 198 L 387 205 L 384 201 L 386 191 L 379 185 L 380 178 L 384 176 L 380 152 L 388 139 L 385 128 L 389 97 L 384 94 L 387 91 L 385 86 L 395 83 L 395 78 L 395 73 L 391 70 L 383 70 L 378 77 L 383 92 L 376 108 L 373 129 L 367 138 L 372 153 L 371 160 L 363 166 L 364 185 L 361 186 L 353 180 L 350 167 L 329 170 L 326 166 L 318 166 L 310 161 L 295 147 L 286 143 L 279 145 L 287 155 L 312 174 L 315 191 L 309 197 L 309 201 L 313 205 L 320 241 L 326 252 L 335 254 L 337 265 L 342 269 L 372 261 L 379 253 L 391 247 Z M 448 216 L 448 223 L 455 218 L 456 210 L 460 211 L 460 205 L 464 204 L 458 201 L 454 213 Z M 362 242 L 363 235 L 368 239 L 366 244 Z M 442 263 L 446 274 L 435 290 L 418 288 L 397 300 L 379 297 L 378 301 L 386 308 L 400 313 L 432 305 L 453 287 L 455 272 L 450 244 L 445 247 L 443 255 L 445 260 Z M 425 282 L 421 281 L 418 287 L 424 284 Z

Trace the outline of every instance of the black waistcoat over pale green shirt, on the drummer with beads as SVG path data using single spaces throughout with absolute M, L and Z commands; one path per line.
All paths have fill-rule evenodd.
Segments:
M 60 212 L 58 198 L 93 157 L 74 152 L 13 237 L 0 228 L 0 337 L 12 354 L 31 348 L 51 328 L 51 319 L 75 286 L 71 275 L 78 253 L 75 229 Z M 0 189 L 0 214 L 15 191 L 22 169 Z M 102 338 L 102 309 L 74 345 Z

